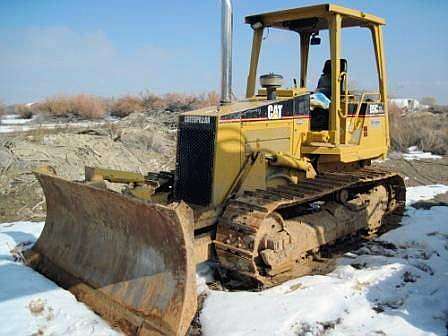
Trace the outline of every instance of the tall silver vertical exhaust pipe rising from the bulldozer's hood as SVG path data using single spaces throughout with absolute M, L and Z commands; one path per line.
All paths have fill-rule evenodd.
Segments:
M 232 102 L 232 32 L 231 0 L 221 0 L 221 105 Z

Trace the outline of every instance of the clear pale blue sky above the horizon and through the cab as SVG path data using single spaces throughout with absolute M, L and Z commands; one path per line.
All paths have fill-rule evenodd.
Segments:
M 448 104 L 448 1 L 334 0 L 386 19 L 389 91 Z M 233 0 L 233 92 L 243 97 L 250 57 L 249 14 L 321 3 Z M 329 58 L 328 33 L 310 54 L 308 88 Z M 342 55 L 352 87 L 376 89 L 371 36 L 346 29 Z M 259 75 L 299 74 L 298 37 L 265 32 Z M 0 0 L 0 100 L 28 103 L 58 94 L 111 97 L 219 91 L 220 1 Z

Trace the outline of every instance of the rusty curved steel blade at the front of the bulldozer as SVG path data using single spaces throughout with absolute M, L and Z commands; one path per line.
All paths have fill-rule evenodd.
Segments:
M 131 335 L 184 335 L 197 306 L 191 210 L 36 173 L 47 201 L 30 265 Z

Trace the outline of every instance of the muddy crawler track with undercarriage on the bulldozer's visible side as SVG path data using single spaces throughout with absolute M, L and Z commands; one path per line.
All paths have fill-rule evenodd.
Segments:
M 398 174 L 370 167 L 246 191 L 229 201 L 219 220 L 215 246 L 220 264 L 232 277 L 250 278 L 263 287 L 313 273 L 319 248 L 376 231 L 384 215 L 404 209 L 405 192 Z M 378 205 L 373 206 L 374 200 Z M 310 210 L 318 201 L 324 204 L 321 211 Z M 372 226 L 374 216 L 380 217 Z

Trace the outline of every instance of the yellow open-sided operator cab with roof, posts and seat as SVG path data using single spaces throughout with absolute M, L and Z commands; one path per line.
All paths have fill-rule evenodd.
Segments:
M 261 45 L 266 36 L 269 36 L 268 33 L 265 36 L 265 32 L 268 29 L 279 29 L 297 33 L 300 44 L 299 81 L 297 83 L 294 80 L 292 88 L 280 88 L 279 86 L 271 88 L 271 95 L 267 98 L 272 99 L 272 92 L 276 93 L 278 98 L 308 95 L 311 120 L 310 132 L 306 138 L 314 139 L 321 136 L 319 141 L 311 142 L 327 142 L 334 146 L 349 143 L 359 145 L 364 127 L 364 122 L 361 122 L 360 118 L 364 118 L 370 111 L 382 116 L 387 114 L 386 78 L 382 50 L 382 26 L 385 21 L 382 18 L 337 5 L 323 4 L 251 15 L 246 17 L 246 23 L 251 25 L 254 32 L 246 89 L 247 99 L 268 96 L 268 89 L 263 85 L 263 89 L 258 90 L 257 95 L 255 94 Z M 341 57 L 341 32 L 344 28 L 363 28 L 370 33 L 376 61 L 378 91 L 360 94 L 349 92 L 348 61 Z M 330 57 L 323 64 L 322 73 L 317 85 L 313 85 L 315 88 L 313 91 L 307 88 L 310 46 L 320 45 L 319 33 L 323 31 L 328 31 Z M 388 126 L 386 125 L 386 127 Z

